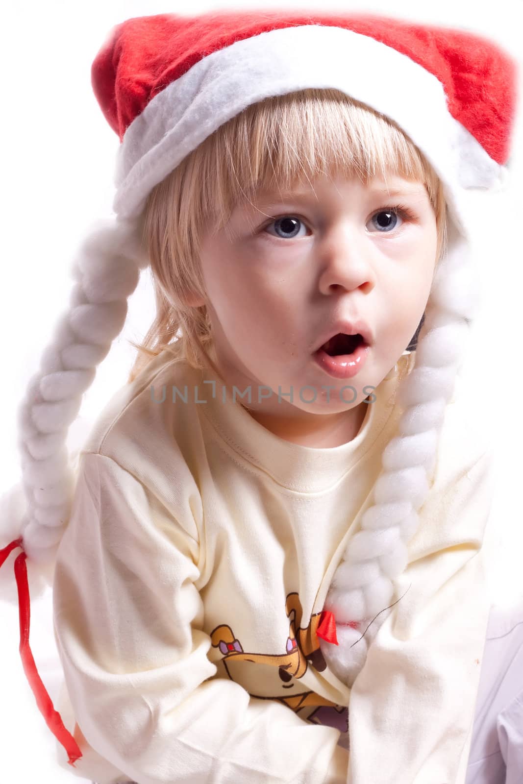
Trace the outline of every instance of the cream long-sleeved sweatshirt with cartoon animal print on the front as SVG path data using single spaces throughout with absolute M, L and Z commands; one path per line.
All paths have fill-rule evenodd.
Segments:
M 223 379 L 166 351 L 114 394 L 78 456 L 53 585 L 58 710 L 83 753 L 74 769 L 57 746 L 68 771 L 100 784 L 463 784 L 492 450 L 459 394 L 396 582 L 405 596 L 352 689 L 315 633 L 414 360 L 335 448 L 272 434 Z

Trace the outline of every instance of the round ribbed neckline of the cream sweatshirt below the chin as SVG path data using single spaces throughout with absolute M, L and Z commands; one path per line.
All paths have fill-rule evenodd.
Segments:
M 227 445 L 268 474 L 279 485 L 296 492 L 320 492 L 336 484 L 372 448 L 387 425 L 399 381 L 409 372 L 412 354 L 402 355 L 398 369 L 383 379 L 374 394 L 376 401 L 367 405 L 358 434 L 336 447 L 309 447 L 286 441 L 260 424 L 233 400 L 231 390 L 211 367 L 194 368 L 198 405 L 216 433 Z M 203 379 L 208 383 L 203 383 Z M 209 383 L 216 382 L 216 386 Z

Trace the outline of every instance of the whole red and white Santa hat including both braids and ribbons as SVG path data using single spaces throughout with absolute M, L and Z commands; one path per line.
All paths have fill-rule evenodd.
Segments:
M 430 292 L 416 366 L 398 395 L 405 408 L 400 432 L 383 453 L 375 503 L 347 545 L 318 628 L 329 666 L 351 684 L 387 617 L 376 622 L 372 616 L 390 603 L 393 581 L 406 565 L 463 355 L 463 327 L 476 304 L 463 194 L 503 184 L 516 101 L 515 62 L 493 42 L 361 13 L 137 17 L 111 30 L 93 62 L 92 81 L 121 141 L 116 217 L 97 225 L 79 249 L 70 307 L 20 406 L 23 479 L 4 498 L 2 535 L 10 543 L 0 550 L 0 566 L 21 550 L 15 563 L 20 652 L 38 707 L 71 764 L 81 751 L 53 710 L 28 645 L 26 561 L 39 590 L 38 576 L 52 576 L 71 511 L 67 429 L 123 328 L 127 298 L 148 263 L 137 226 L 151 189 L 245 107 L 306 88 L 339 89 L 387 115 L 443 183 L 453 230 Z

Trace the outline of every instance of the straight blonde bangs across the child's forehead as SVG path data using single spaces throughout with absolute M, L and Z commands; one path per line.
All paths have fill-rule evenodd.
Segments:
M 256 194 L 313 187 L 321 178 L 389 176 L 423 182 L 435 207 L 438 177 L 385 115 L 336 89 L 306 89 L 253 103 L 202 145 L 202 213 L 216 230 Z

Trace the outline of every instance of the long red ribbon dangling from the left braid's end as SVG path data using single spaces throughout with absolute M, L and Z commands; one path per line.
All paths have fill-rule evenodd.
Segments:
M 18 611 L 20 615 L 20 657 L 24 665 L 24 671 L 29 681 L 29 685 L 35 695 L 36 704 L 42 716 L 45 718 L 45 724 L 53 732 L 53 735 L 64 746 L 67 751 L 69 759 L 67 762 L 74 768 L 74 763 L 82 757 L 82 752 L 78 743 L 74 740 L 71 732 L 64 727 L 64 722 L 60 713 L 54 710 L 53 702 L 49 697 L 42 679 L 38 675 L 36 669 L 35 659 L 31 653 L 31 646 L 29 645 L 29 623 L 31 620 L 31 598 L 29 597 L 29 585 L 27 583 L 27 554 L 22 544 L 22 537 L 14 539 L 13 542 L 8 544 L 0 550 L 0 567 L 4 564 L 9 554 L 20 547 L 22 552 L 16 558 L 14 564 L 14 571 L 16 577 L 16 588 L 18 590 Z

